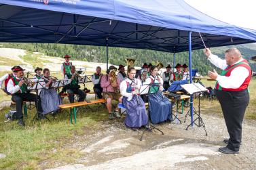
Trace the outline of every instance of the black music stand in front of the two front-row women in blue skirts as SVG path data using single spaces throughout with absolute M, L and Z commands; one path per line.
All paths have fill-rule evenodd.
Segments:
M 157 83 L 155 83 L 155 84 L 157 84 Z M 152 88 L 154 89 L 154 91 L 153 91 L 153 92 L 150 91 L 150 90 L 151 90 L 151 86 L 152 86 L 151 83 L 150 83 L 150 84 L 141 85 L 140 91 L 139 91 L 139 95 L 141 95 L 141 94 L 147 94 L 147 95 L 149 95 L 149 93 L 157 93 L 158 91 L 157 91 L 154 87 L 152 87 Z M 143 88 L 142 88 L 142 87 L 143 87 Z M 158 87 L 158 88 L 159 88 L 159 87 Z M 148 102 L 148 108 L 149 108 L 149 102 Z M 150 131 L 152 131 L 153 129 L 156 129 L 157 131 L 160 131 L 160 132 L 162 133 L 162 135 L 164 135 L 164 132 L 163 132 L 163 131 L 161 131 L 160 129 L 158 129 L 157 127 L 155 127 L 155 126 L 152 125 L 152 124 L 149 125 L 149 109 L 148 109 L 148 112 L 147 112 L 147 117 L 148 117 L 148 121 L 147 121 L 146 127 L 148 127 L 148 128 L 150 129 Z M 143 138 L 143 135 L 144 135 L 144 133 L 145 133 L 145 130 L 146 130 L 146 128 L 143 130 L 143 133 L 142 133 L 142 135 L 141 135 L 140 141 L 142 141 L 142 138 Z

